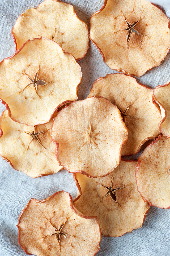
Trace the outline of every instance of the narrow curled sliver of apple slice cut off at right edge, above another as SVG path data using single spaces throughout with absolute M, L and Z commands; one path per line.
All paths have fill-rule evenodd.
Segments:
M 162 120 L 159 123 L 160 131 L 164 136 L 170 137 L 170 80 L 154 89 L 153 98 L 161 109 Z

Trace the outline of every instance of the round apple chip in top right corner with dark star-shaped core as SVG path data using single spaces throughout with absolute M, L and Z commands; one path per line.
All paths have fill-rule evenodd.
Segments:
M 129 75 L 159 66 L 170 48 L 169 18 L 149 1 L 105 0 L 89 26 L 104 62 Z

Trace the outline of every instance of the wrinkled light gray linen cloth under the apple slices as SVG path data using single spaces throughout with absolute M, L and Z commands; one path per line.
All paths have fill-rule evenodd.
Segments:
M 170 17 L 169 0 L 153 2 L 159 4 Z M 0 61 L 15 53 L 11 29 L 17 17 L 31 6 L 36 8 L 40 3 L 41 0 L 0 0 Z M 88 24 L 90 16 L 103 6 L 104 0 L 70 0 L 70 3 L 75 7 L 79 17 Z M 97 78 L 116 72 L 103 62 L 100 53 L 91 42 L 86 57 L 79 63 L 83 72 L 78 92 L 79 99 L 87 97 L 92 83 Z M 155 88 L 169 79 L 170 53 L 159 67 L 147 71 L 142 77 L 137 78 L 137 81 Z M 3 110 L 5 107 L 0 103 L 0 114 Z M 137 159 L 137 156 L 130 158 Z M 0 157 L 0 256 L 26 255 L 17 241 L 16 224 L 19 214 L 30 198 L 42 200 L 59 190 L 68 191 L 73 198 L 76 197 L 77 187 L 73 174 L 61 170 L 58 174 L 32 179 L 14 170 Z M 100 247 L 98 256 L 170 255 L 170 210 L 151 207 L 142 228 L 118 238 L 102 237 Z

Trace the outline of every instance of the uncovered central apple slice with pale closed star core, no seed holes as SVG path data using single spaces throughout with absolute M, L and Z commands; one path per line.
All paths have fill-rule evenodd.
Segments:
M 72 102 L 54 118 L 56 157 L 66 170 L 105 176 L 120 162 L 127 128 L 117 106 L 103 97 Z

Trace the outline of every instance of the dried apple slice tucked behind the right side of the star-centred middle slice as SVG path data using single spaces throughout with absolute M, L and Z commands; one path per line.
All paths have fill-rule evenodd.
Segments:
M 160 134 L 161 114 L 158 106 L 152 103 L 152 94 L 153 89 L 119 73 L 100 77 L 92 85 L 88 97 L 103 96 L 121 111 L 128 128 L 128 141 L 122 147 L 122 155 L 135 155 L 144 142 Z

